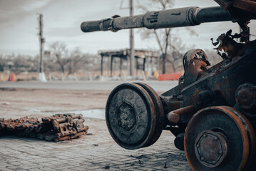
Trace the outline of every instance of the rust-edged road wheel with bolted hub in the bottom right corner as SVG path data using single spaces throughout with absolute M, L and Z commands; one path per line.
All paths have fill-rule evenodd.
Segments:
M 199 110 L 185 130 L 185 155 L 193 170 L 243 170 L 255 156 L 255 132 L 235 108 Z

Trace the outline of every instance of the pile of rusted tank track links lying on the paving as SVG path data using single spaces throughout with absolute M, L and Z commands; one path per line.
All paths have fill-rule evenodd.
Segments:
M 0 135 L 17 135 L 19 137 L 39 138 L 48 141 L 62 141 L 79 138 L 88 131 L 83 125 L 83 115 L 56 114 L 51 117 L 19 118 L 16 120 L 0 119 Z

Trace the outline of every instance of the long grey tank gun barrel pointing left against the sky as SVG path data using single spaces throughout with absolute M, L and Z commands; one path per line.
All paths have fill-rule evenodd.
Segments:
M 81 24 L 83 32 L 118 31 L 127 28 L 173 28 L 195 26 L 201 23 L 231 21 L 232 16 L 220 6 L 207 8 L 186 7 L 162 11 L 148 11 L 145 14 L 124 16 L 98 21 L 85 21 Z

